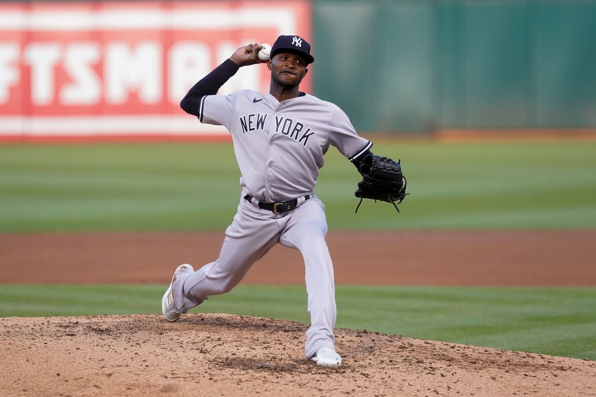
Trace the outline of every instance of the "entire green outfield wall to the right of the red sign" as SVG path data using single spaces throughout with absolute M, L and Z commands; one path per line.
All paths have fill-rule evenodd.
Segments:
M 596 127 L 596 0 L 313 0 L 315 95 L 364 131 Z

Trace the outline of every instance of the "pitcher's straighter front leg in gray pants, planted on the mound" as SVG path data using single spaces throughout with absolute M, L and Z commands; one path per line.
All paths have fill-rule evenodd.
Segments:
M 299 249 L 304 258 L 308 311 L 311 314 L 305 355 L 310 358 L 322 346 L 335 345 L 333 328 L 337 310 L 333 263 L 325 242 L 327 219 L 321 201 L 316 197 L 309 199 L 294 211 L 280 236 L 280 243 Z

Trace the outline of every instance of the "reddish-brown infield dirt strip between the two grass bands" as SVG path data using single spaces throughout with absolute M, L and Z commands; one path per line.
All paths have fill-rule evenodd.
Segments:
M 215 261 L 223 232 L 0 235 L 0 283 L 162 283 Z M 596 231 L 336 232 L 337 284 L 596 286 Z M 244 284 L 304 284 L 300 252 L 275 246 Z

